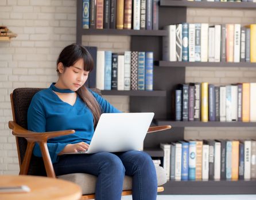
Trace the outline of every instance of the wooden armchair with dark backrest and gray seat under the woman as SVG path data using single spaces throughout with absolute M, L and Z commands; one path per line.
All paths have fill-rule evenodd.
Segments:
M 38 88 L 18 88 L 10 94 L 11 109 L 13 112 L 13 121 L 9 122 L 9 128 L 13 130 L 13 135 L 16 137 L 16 144 L 18 150 L 18 159 L 20 164 L 20 175 L 42 175 L 51 178 L 61 178 L 67 181 L 77 183 L 82 187 L 82 199 L 95 198 L 95 183 L 96 177 L 91 174 L 65 174 L 56 177 L 53 170 L 52 161 L 49 155 L 46 142 L 49 138 L 59 137 L 61 135 L 68 135 L 75 133 L 75 130 L 52 131 L 46 133 L 35 133 L 27 130 L 27 114 L 30 101 Z M 100 94 L 100 90 L 92 89 Z M 170 126 L 156 126 L 150 127 L 148 133 L 155 131 L 170 129 Z M 42 152 L 42 158 L 35 157 L 32 154 L 35 142 L 38 142 Z M 162 167 L 156 167 L 158 186 L 166 182 L 166 174 Z M 158 192 L 164 191 L 164 187 L 158 187 Z M 131 194 L 131 177 L 126 176 L 123 183 L 122 195 Z

